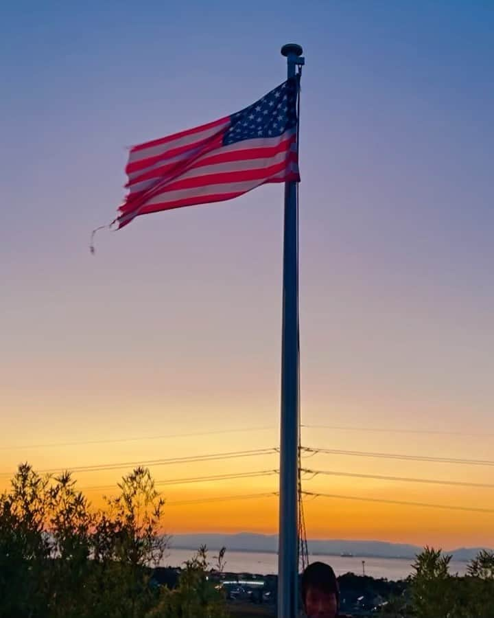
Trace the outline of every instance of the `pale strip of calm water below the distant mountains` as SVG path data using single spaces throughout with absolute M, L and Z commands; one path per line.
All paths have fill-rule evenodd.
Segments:
M 185 560 L 193 556 L 191 549 L 167 550 L 166 556 L 162 561 L 163 567 L 180 567 Z M 209 558 L 214 562 L 217 552 L 211 550 Z M 278 571 L 278 556 L 276 553 L 263 553 L 255 551 L 226 551 L 225 571 L 232 573 L 259 573 L 260 575 L 270 575 Z M 403 558 L 365 558 L 365 565 L 362 565 L 363 558 L 348 558 L 346 556 L 310 556 L 311 562 L 320 560 L 331 564 L 336 575 L 344 573 L 355 573 L 362 575 L 365 567 L 366 575 L 380 578 L 386 577 L 388 580 L 401 580 L 412 573 L 413 560 Z M 451 573 L 463 575 L 467 570 L 465 562 L 451 562 Z

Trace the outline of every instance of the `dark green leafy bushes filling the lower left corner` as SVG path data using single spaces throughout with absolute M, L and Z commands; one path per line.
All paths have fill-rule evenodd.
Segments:
M 40 477 L 19 466 L 0 496 L 0 618 L 224 615 L 205 548 L 187 562 L 176 590 L 152 585 L 167 544 L 165 503 L 145 468 L 118 488 L 94 512 L 70 472 Z

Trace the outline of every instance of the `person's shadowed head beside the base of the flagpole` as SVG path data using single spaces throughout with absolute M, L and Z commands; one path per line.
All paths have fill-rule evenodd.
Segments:
M 302 599 L 309 618 L 335 618 L 340 605 L 336 575 L 324 562 L 309 564 L 302 574 Z

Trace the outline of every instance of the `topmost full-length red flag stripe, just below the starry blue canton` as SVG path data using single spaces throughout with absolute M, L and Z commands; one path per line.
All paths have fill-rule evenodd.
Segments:
M 292 135 L 288 139 L 281 141 L 277 146 L 266 146 L 261 148 L 245 148 L 244 150 L 231 150 L 222 152 L 220 148 L 219 152 L 216 154 L 212 154 L 209 157 L 204 156 L 204 152 L 202 153 L 202 157 L 204 159 L 200 159 L 200 161 L 196 161 L 194 165 L 191 165 L 191 168 L 195 170 L 196 168 L 203 167 L 204 165 L 212 165 L 214 163 L 229 163 L 231 161 L 247 161 L 251 159 L 267 159 L 268 157 L 274 157 L 274 155 L 278 155 L 279 152 L 284 152 L 286 150 L 290 150 L 290 147 L 296 141 L 295 135 Z M 132 180 L 129 180 L 126 184 L 126 187 L 132 187 L 132 185 L 137 185 L 146 180 L 151 180 L 153 178 L 158 178 L 160 176 L 164 176 L 171 170 L 178 170 L 180 165 L 184 163 L 188 163 L 188 161 L 176 161 L 176 163 L 168 163 L 167 165 L 161 165 L 159 168 L 154 168 L 149 172 L 145 172 L 140 176 L 136 176 Z

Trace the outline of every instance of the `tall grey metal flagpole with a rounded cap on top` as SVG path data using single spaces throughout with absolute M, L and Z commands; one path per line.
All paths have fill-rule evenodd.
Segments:
M 287 77 L 303 64 L 302 47 L 283 45 Z M 296 183 L 285 183 L 283 341 L 279 487 L 278 618 L 298 613 L 298 204 Z

